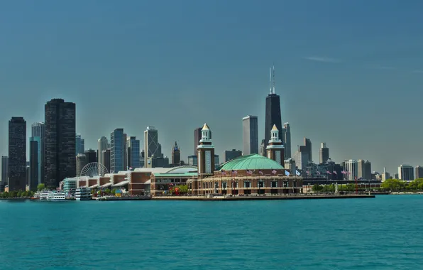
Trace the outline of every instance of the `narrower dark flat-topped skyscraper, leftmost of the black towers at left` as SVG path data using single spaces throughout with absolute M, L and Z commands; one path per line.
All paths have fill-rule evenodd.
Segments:
M 26 121 L 9 121 L 9 192 L 26 190 Z

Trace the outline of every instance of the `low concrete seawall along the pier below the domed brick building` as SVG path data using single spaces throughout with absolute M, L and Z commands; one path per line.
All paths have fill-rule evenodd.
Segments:
M 151 200 L 319 200 L 319 199 L 365 199 L 375 198 L 375 195 L 291 195 L 291 196 L 240 196 L 240 197 L 214 197 L 199 196 L 156 196 Z

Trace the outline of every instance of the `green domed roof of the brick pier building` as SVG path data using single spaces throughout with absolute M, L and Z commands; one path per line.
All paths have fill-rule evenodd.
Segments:
M 256 153 L 248 156 L 238 156 L 231 161 L 223 163 L 217 171 L 231 171 L 231 170 L 271 170 L 283 169 L 283 166 L 278 162 L 273 161 L 265 156 L 260 156 Z

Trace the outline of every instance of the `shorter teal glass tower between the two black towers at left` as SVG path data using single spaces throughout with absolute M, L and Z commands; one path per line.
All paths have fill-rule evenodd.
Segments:
M 38 136 L 31 137 L 30 141 L 30 156 L 29 156 L 29 166 L 31 169 L 30 175 L 30 185 L 31 190 L 32 188 L 36 188 L 38 184 L 42 183 L 42 158 L 43 158 L 43 149 L 41 144 L 41 139 Z

